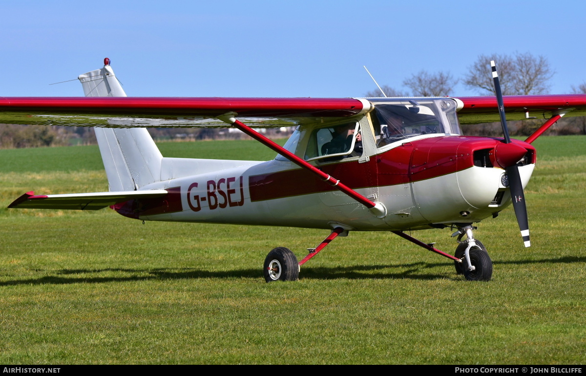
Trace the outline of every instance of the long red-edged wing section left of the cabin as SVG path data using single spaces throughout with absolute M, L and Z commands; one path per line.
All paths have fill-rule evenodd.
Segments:
M 0 123 L 74 127 L 222 127 L 236 112 L 255 127 L 286 127 L 370 111 L 355 98 L 0 97 Z

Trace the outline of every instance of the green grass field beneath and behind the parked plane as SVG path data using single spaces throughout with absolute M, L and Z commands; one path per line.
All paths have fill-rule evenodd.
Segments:
M 13 210 L 107 190 L 97 146 L 0 150 L 0 363 L 586 363 L 586 138 L 542 137 L 526 189 L 532 247 L 507 208 L 476 237 L 490 282 L 393 234 L 351 233 L 265 283 L 323 230 L 147 223 L 112 210 Z M 253 141 L 161 143 L 165 156 L 270 159 Z M 418 231 L 454 252 L 449 230 Z

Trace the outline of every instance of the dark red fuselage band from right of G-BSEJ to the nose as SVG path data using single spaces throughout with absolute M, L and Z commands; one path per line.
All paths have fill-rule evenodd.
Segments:
M 418 182 L 471 168 L 473 152 L 493 149 L 501 139 L 472 136 L 447 136 L 406 142 L 385 153 L 372 156 L 369 162 L 332 163 L 320 169 L 351 189 Z M 513 142 L 534 152 L 522 141 Z M 534 160 L 532 161 L 534 163 Z M 330 184 L 302 169 L 250 176 L 250 200 L 263 201 L 302 194 L 332 192 Z

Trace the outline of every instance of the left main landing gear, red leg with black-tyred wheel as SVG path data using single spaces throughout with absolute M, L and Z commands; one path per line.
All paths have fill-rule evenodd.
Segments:
M 326 245 L 342 234 L 344 229 L 336 227 L 317 247 L 309 248 L 309 254 L 301 261 L 297 262 L 297 257 L 290 249 L 278 247 L 268 253 L 264 259 L 264 280 L 273 281 L 297 281 L 301 265 L 305 264 L 310 258 L 319 253 Z

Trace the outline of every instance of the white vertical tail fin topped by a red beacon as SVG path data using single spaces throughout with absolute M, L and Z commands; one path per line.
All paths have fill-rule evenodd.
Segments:
M 126 97 L 120 81 L 104 59 L 104 67 L 77 77 L 86 97 Z M 147 129 L 94 128 L 110 191 L 138 190 L 161 180 L 163 156 Z

